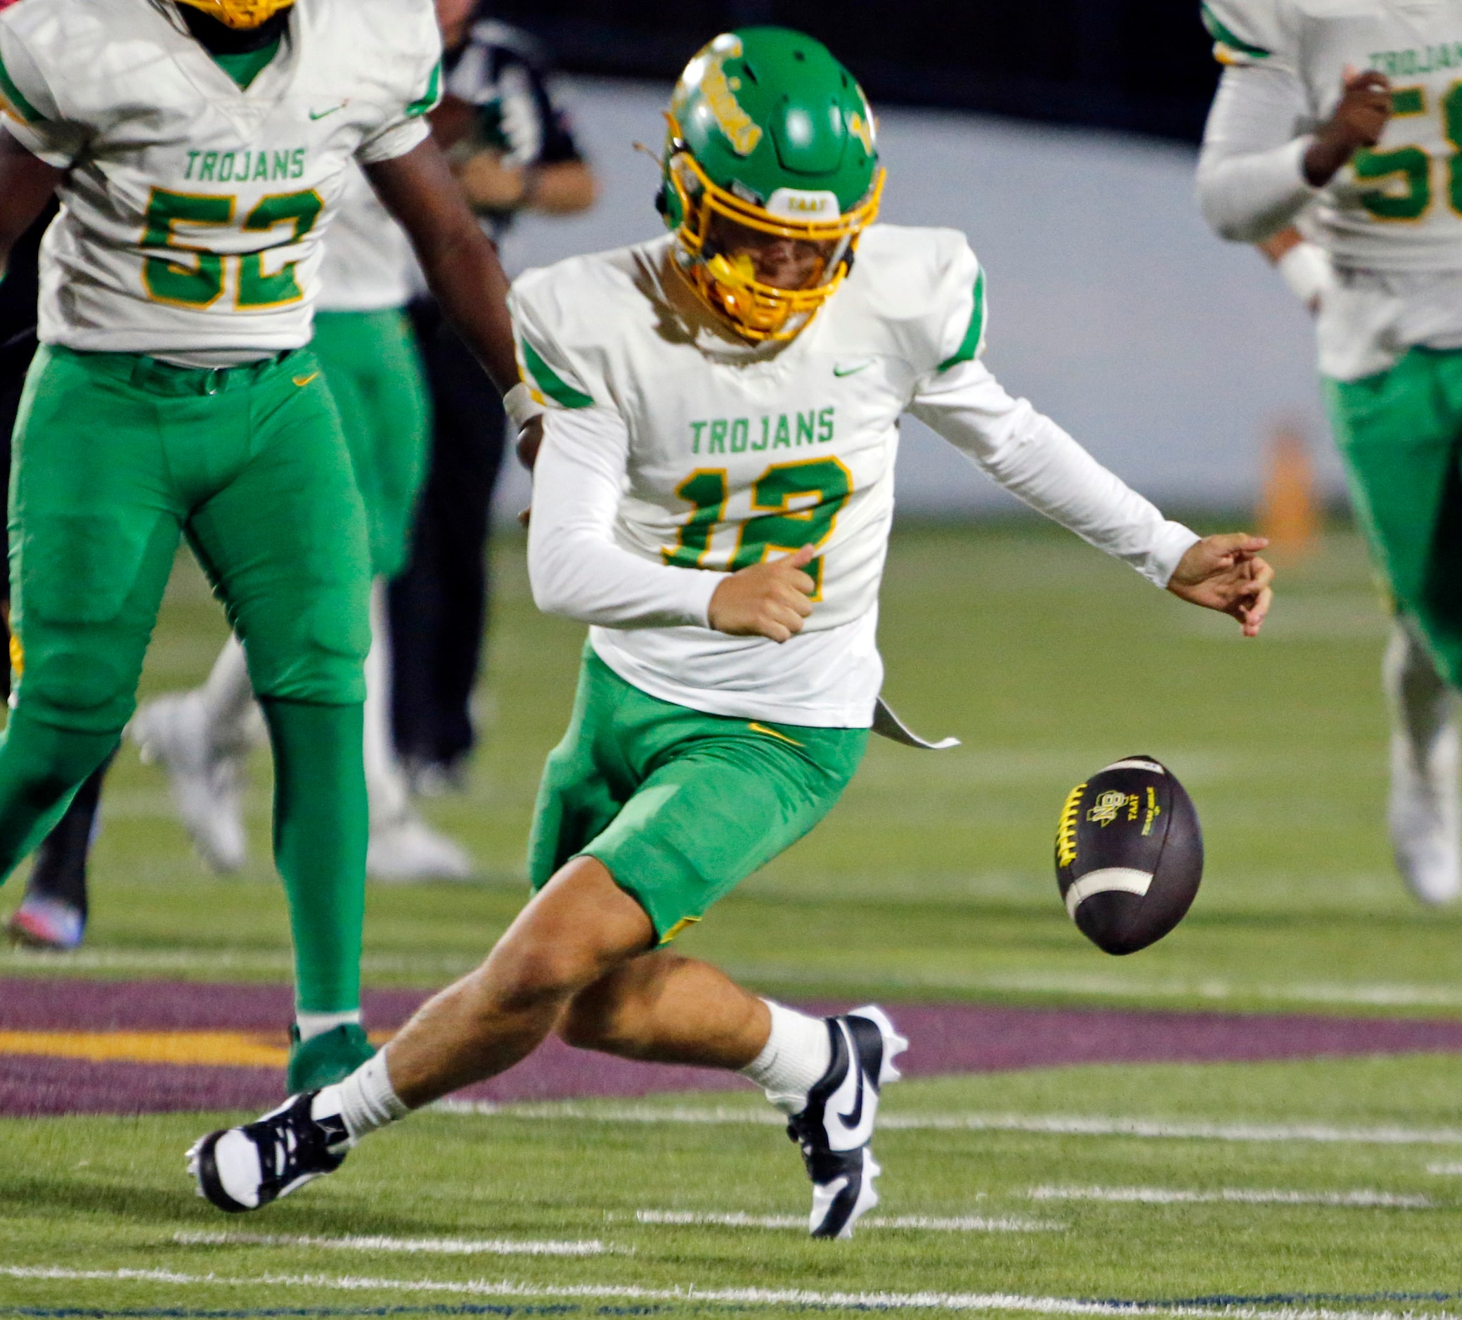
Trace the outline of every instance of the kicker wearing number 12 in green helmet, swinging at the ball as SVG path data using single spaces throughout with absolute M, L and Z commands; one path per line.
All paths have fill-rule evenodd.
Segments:
M 671 234 L 516 285 L 520 365 L 548 406 L 534 595 L 594 626 L 539 789 L 537 893 L 348 1080 L 200 1140 L 213 1205 L 257 1209 L 333 1171 L 556 1031 L 744 1073 L 789 1117 L 813 1235 L 851 1234 L 877 1200 L 870 1140 L 905 1041 L 876 1007 L 807 1017 L 665 946 L 829 811 L 876 709 L 887 719 L 874 631 L 901 414 L 1259 631 L 1263 542 L 1165 522 L 1006 395 L 980 361 L 985 285 L 963 237 L 870 228 L 882 187 L 873 114 L 829 51 L 728 34 L 671 104 Z

